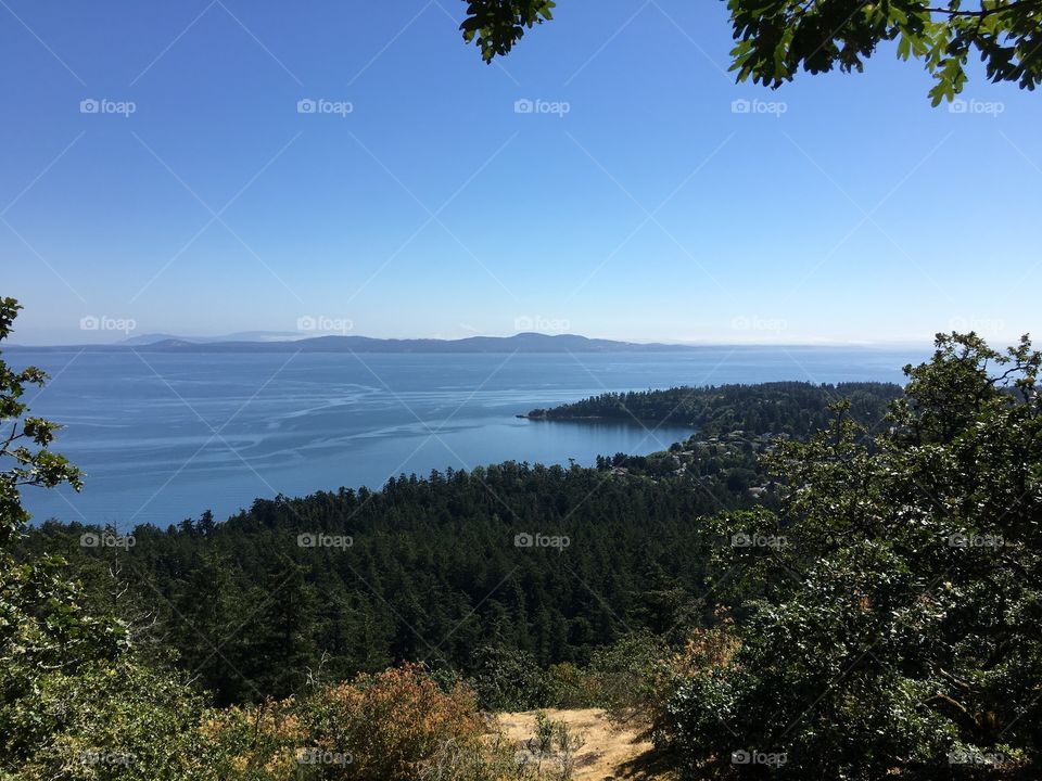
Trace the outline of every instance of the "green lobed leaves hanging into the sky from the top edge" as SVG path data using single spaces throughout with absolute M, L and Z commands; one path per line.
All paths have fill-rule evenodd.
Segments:
M 897 41 L 902 60 L 915 57 L 936 84 L 933 105 L 953 100 L 976 54 L 991 81 L 1033 90 L 1042 80 L 1042 0 L 726 0 L 733 36 L 730 69 L 738 80 L 772 88 L 802 69 L 863 71 L 880 43 Z M 507 54 L 525 28 L 550 18 L 545 0 L 469 0 L 460 28 L 486 62 Z

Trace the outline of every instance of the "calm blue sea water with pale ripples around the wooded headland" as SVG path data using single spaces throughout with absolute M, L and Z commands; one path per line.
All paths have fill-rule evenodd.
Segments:
M 675 426 L 516 418 L 605 390 L 773 380 L 901 382 L 912 350 L 707 347 L 610 355 L 166 355 L 17 350 L 52 380 L 35 414 L 64 423 L 58 450 L 81 494 L 26 490 L 36 521 L 165 526 L 257 497 L 376 488 L 402 473 L 505 460 L 590 464 L 647 453 Z

